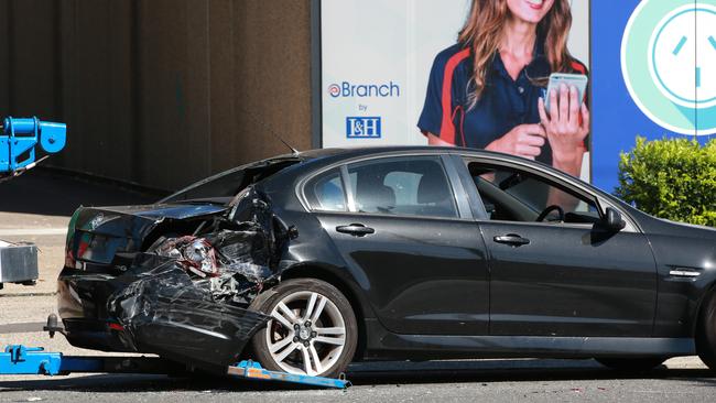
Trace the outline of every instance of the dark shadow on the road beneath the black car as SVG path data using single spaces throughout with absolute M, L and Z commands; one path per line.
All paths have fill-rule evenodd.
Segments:
M 546 361 L 546 362 L 545 362 Z M 566 362 L 566 363 L 565 363 Z M 552 368 L 551 366 L 560 366 Z M 354 385 L 400 385 L 430 383 L 540 382 L 565 380 L 664 379 L 716 386 L 716 374 L 706 369 L 666 369 L 625 373 L 606 369 L 593 360 L 499 360 L 412 363 L 352 364 L 347 378 Z M 39 378 L 28 381 L 1 381 L 0 392 L 9 391 L 84 391 L 84 392 L 159 392 L 159 391 L 284 391 L 315 388 L 248 381 L 227 378 L 171 378 L 166 375 L 97 374 L 79 378 Z

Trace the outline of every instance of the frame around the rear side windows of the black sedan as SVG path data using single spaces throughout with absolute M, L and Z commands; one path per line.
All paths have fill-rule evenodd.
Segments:
M 438 216 L 421 216 L 421 215 L 405 215 L 405 214 L 380 214 L 380 213 L 358 213 L 358 209 L 356 207 L 356 202 L 355 202 L 355 195 L 352 194 L 352 186 L 350 184 L 350 176 L 348 174 L 348 166 L 351 164 L 356 163 L 361 163 L 361 162 L 369 162 L 369 161 L 376 161 L 376 160 L 394 160 L 394 159 L 401 159 L 401 157 L 424 157 L 424 156 L 431 156 L 434 157 L 443 168 L 443 173 L 445 174 L 447 185 L 452 192 L 452 197 L 453 197 L 453 203 L 455 204 L 456 217 L 438 217 Z M 339 163 L 330 164 L 328 166 L 324 166 L 317 171 L 312 172 L 311 174 L 302 177 L 297 185 L 296 185 L 296 196 L 299 196 L 299 199 L 303 207 L 306 209 L 306 211 L 316 211 L 316 213 L 329 213 L 329 214 L 337 214 L 337 215 L 366 215 L 366 216 L 380 216 L 380 217 L 399 217 L 399 218 L 419 218 L 419 219 L 442 219 L 442 220 L 473 220 L 474 219 L 474 210 L 471 209 L 471 203 L 469 200 L 465 199 L 465 195 L 468 194 L 467 189 L 464 186 L 463 178 L 459 175 L 458 170 L 455 168 L 454 162 L 451 160 L 451 155 L 445 155 L 442 153 L 390 153 L 390 154 L 379 154 L 379 155 L 370 155 L 370 156 L 359 156 L 346 161 L 341 161 Z M 311 204 L 307 200 L 307 197 L 305 195 L 305 186 L 306 183 L 308 183 L 311 179 L 314 177 L 325 174 L 328 171 L 338 168 L 340 171 L 340 177 L 341 177 L 341 185 L 344 187 L 344 197 L 346 198 L 346 204 L 348 207 L 347 211 L 326 211 L 326 210 L 319 210 L 315 209 L 311 206 Z

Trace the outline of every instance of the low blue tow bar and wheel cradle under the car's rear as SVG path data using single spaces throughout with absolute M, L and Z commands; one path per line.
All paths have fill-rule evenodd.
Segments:
M 73 357 L 45 351 L 42 347 L 7 346 L 0 352 L 0 375 L 66 375 L 72 372 L 175 373 L 176 363 L 147 357 Z M 229 377 L 278 381 L 322 388 L 346 389 L 350 382 L 339 379 L 269 371 L 258 362 L 245 360 L 229 366 Z

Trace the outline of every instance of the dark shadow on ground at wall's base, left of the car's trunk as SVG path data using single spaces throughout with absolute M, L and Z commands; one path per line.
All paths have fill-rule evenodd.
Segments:
M 140 193 L 117 183 L 35 168 L 0 183 L 0 211 L 72 216 L 80 205 L 149 204 L 162 196 L 161 193 Z

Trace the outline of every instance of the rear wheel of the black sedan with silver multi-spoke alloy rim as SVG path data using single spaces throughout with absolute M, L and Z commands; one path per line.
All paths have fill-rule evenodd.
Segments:
M 268 295 L 256 306 L 271 319 L 251 339 L 254 359 L 295 374 L 337 377 L 345 371 L 356 351 L 358 326 L 340 291 L 321 280 L 295 279 Z

